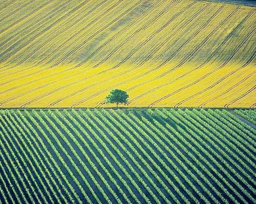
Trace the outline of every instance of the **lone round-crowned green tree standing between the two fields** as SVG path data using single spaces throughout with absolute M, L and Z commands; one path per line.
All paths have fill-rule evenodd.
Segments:
M 106 103 L 127 104 L 129 95 L 126 91 L 115 89 L 110 91 L 110 94 L 106 97 Z

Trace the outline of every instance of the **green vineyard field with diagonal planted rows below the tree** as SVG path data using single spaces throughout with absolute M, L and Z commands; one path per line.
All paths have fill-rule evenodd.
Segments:
M 1 110 L 0 203 L 255 203 L 255 134 L 222 109 Z

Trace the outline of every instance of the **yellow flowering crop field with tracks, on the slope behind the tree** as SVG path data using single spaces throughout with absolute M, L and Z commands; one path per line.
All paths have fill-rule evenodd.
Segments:
M 255 107 L 255 7 L 197 1 L 3 1 L 0 108 Z M 13 2 L 13 3 L 10 3 Z

